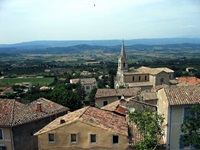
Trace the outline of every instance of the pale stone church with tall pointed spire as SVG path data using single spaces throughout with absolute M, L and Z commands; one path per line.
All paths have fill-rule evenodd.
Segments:
M 122 42 L 121 54 L 118 58 L 118 70 L 115 79 L 115 89 L 120 87 L 141 87 L 142 90 L 151 89 L 157 85 L 169 85 L 174 79 L 174 71 L 169 68 L 139 67 L 128 68 L 128 59 Z

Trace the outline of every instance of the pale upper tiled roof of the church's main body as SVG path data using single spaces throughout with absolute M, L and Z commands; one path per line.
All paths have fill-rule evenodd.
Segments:
M 137 69 L 137 71 L 140 71 L 140 72 L 146 72 L 146 73 L 149 73 L 149 74 L 152 74 L 152 75 L 156 75 L 162 71 L 165 71 L 167 73 L 172 73 L 174 72 L 173 70 L 169 69 L 169 68 L 166 68 L 166 67 L 163 67 L 163 68 L 150 68 L 150 67 L 140 67 Z

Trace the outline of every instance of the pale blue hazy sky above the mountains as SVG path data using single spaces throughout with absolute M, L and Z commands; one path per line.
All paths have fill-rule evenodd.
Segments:
M 0 44 L 200 38 L 200 0 L 0 0 Z

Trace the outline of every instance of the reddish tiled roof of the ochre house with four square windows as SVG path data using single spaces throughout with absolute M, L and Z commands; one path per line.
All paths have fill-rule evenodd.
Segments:
M 64 120 L 65 123 L 60 124 L 60 120 Z M 110 111 L 89 106 L 74 112 L 70 112 L 69 114 L 55 119 L 53 122 L 49 123 L 43 129 L 38 131 L 35 135 L 51 131 L 52 129 L 56 129 L 62 126 L 67 126 L 74 121 L 81 121 L 98 128 L 103 128 L 118 134 L 128 136 L 128 125 L 126 123 L 125 117 Z

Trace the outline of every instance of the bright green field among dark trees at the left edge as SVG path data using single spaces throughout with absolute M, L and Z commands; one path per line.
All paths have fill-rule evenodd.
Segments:
M 4 78 L 0 79 L 0 87 L 8 87 L 15 83 L 31 82 L 32 85 L 49 85 L 54 81 L 54 78 Z

